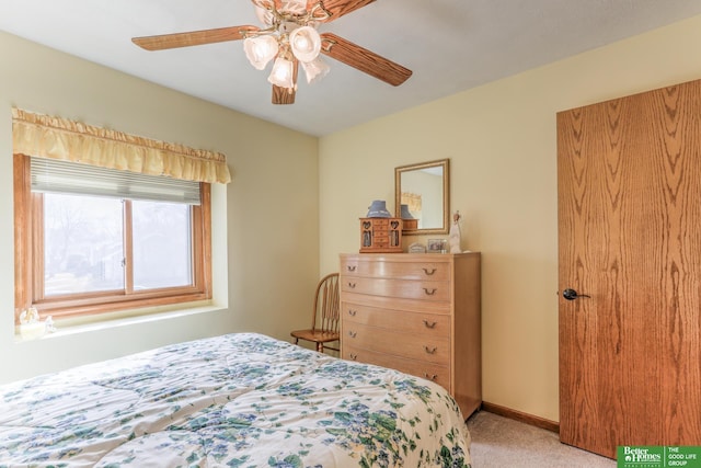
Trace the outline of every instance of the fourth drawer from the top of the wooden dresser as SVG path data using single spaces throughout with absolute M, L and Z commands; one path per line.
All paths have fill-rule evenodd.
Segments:
M 341 341 L 344 346 L 361 347 L 434 364 L 447 365 L 450 359 L 448 336 L 397 332 L 344 321 Z

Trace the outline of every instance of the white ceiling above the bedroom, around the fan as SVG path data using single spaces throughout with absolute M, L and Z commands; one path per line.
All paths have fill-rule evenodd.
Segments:
M 393 88 L 326 58 L 296 103 L 241 42 L 146 52 L 130 38 L 260 25 L 248 0 L 0 0 L 0 30 L 314 136 L 701 14 L 701 0 L 378 0 L 319 27 L 414 75 Z

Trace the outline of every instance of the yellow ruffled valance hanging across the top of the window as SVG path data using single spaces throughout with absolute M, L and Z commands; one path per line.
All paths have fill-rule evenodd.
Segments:
M 231 182 L 227 158 L 50 115 L 12 109 L 13 151 L 197 182 Z

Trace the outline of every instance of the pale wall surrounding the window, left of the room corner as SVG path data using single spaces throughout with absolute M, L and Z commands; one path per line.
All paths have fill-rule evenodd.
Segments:
M 226 332 L 288 339 L 307 324 L 319 278 L 317 138 L 4 33 L 0 57 L 0 383 Z M 59 323 L 55 335 L 19 341 L 12 106 L 227 155 L 233 182 L 212 190 L 212 306 L 73 329 Z

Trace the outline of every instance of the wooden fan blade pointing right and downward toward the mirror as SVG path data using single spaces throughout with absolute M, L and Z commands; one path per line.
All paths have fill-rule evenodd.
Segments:
M 412 76 L 412 70 L 409 68 L 404 68 L 333 33 L 322 33 L 321 44 L 322 54 L 343 61 L 393 87 L 402 84 Z

